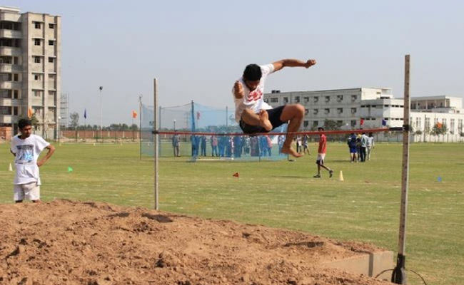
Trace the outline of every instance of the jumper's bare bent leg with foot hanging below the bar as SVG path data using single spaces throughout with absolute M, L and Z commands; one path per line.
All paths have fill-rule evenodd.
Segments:
M 300 128 L 301 121 L 303 120 L 303 117 L 305 115 L 305 108 L 303 105 L 300 104 L 294 104 L 294 105 L 286 105 L 281 114 L 281 121 L 287 122 L 288 120 L 290 123 L 288 123 L 288 128 L 287 131 L 289 133 L 292 132 L 297 132 L 298 129 Z M 288 155 L 293 155 L 294 157 L 301 157 L 303 156 L 301 153 L 296 152 L 293 150 L 291 147 L 291 143 L 293 141 L 293 137 L 295 135 L 287 135 L 286 140 L 283 142 L 282 146 L 282 153 L 286 153 Z

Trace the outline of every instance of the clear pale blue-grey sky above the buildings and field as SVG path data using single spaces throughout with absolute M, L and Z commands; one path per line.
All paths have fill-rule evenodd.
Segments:
M 266 92 L 391 87 L 403 96 L 411 55 L 413 96 L 464 95 L 464 1 L 3 0 L 62 17 L 62 92 L 70 112 L 99 124 L 131 123 L 138 94 L 152 104 L 195 100 L 233 106 L 231 87 L 248 63 L 316 58 L 287 68 Z M 82 119 L 81 119 L 82 120 Z M 83 123 L 81 121 L 81 123 Z

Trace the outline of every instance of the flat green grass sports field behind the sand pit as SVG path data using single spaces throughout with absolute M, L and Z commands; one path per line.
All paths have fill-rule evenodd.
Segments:
M 311 145 L 311 150 L 314 150 Z M 333 179 L 315 156 L 296 162 L 186 162 L 162 158 L 160 207 L 214 219 L 296 229 L 371 242 L 397 252 L 400 144 L 378 144 L 373 159 L 350 164 L 346 145 L 328 145 Z M 464 145 L 410 148 L 406 267 L 428 284 L 464 284 Z M 9 145 L 0 145 L 0 202 L 12 202 Z M 68 166 L 74 171 L 67 172 Z M 337 180 L 343 170 L 344 182 Z M 240 172 L 240 178 L 233 177 Z M 443 181 L 438 182 L 438 177 Z M 138 145 L 62 145 L 41 167 L 42 199 L 96 200 L 153 207 L 153 159 Z M 408 273 L 408 284 L 422 284 Z

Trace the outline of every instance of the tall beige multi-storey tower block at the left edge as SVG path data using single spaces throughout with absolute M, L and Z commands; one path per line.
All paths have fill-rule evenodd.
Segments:
M 0 128 L 16 133 L 35 114 L 36 133 L 58 135 L 61 17 L 0 6 Z

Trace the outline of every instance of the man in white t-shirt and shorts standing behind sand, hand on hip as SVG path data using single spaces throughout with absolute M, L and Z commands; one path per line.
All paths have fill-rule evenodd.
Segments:
M 13 182 L 14 202 L 20 203 L 23 202 L 23 199 L 40 202 L 39 167 L 44 165 L 53 155 L 55 147 L 39 135 L 31 133 L 32 123 L 30 120 L 19 120 L 18 128 L 21 134 L 11 138 L 10 145 L 10 151 L 15 156 L 14 165 L 16 166 Z M 44 158 L 37 161 L 45 148 L 49 152 Z

